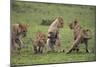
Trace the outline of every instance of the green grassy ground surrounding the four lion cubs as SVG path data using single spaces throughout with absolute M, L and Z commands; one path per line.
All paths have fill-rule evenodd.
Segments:
M 31 64 L 48 64 L 78 61 L 95 61 L 96 60 L 96 41 L 95 41 L 95 24 L 96 24 L 96 7 L 49 4 L 49 3 L 32 3 L 32 2 L 14 2 L 11 7 L 11 24 L 25 23 L 29 24 L 27 37 L 23 39 L 24 48 L 21 53 L 11 54 L 11 65 L 31 65 Z M 42 19 L 54 19 L 62 16 L 64 19 L 64 28 L 60 30 L 62 48 L 69 50 L 73 42 L 72 30 L 68 24 L 74 19 L 78 19 L 83 28 L 91 30 L 92 39 L 89 40 L 89 51 L 85 53 L 85 45 L 80 44 L 80 52 L 71 54 L 66 53 L 48 53 L 33 54 L 32 41 L 30 38 L 35 37 L 38 31 L 47 33 L 48 25 L 41 25 Z

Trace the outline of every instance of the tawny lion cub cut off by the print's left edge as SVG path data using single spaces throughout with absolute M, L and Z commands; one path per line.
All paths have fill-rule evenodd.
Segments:
M 22 38 L 26 36 L 27 33 L 27 24 L 12 24 L 11 25 L 11 49 L 16 50 L 19 46 L 18 50 L 21 49 L 21 45 L 23 45 Z

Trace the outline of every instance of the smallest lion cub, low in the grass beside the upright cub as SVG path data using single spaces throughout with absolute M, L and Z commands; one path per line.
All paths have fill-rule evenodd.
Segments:
M 46 40 L 47 36 L 43 32 L 37 32 L 36 37 L 33 40 L 34 53 L 43 53 L 46 51 Z

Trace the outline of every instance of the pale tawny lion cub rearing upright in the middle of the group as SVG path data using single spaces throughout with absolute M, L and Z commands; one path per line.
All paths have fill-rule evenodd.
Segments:
M 50 25 L 50 27 L 48 29 L 48 39 L 47 39 L 48 51 L 54 51 L 55 48 L 57 48 L 58 50 L 60 50 L 61 42 L 60 42 L 59 29 L 63 28 L 63 26 L 64 26 L 64 21 L 63 21 L 62 17 L 57 17 L 52 22 L 52 24 Z M 50 43 L 50 37 L 52 37 L 52 35 L 50 33 L 52 33 L 52 34 L 54 34 L 56 36 L 56 38 L 55 38 L 55 44 L 53 44 L 53 45 Z

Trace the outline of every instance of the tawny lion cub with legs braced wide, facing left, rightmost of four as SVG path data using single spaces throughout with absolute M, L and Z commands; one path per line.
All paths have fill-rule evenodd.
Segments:
M 73 50 L 75 51 L 79 51 L 79 44 L 80 43 L 84 43 L 86 46 L 86 52 L 89 52 L 88 50 L 88 40 L 91 39 L 89 37 L 89 30 L 85 30 L 82 29 L 81 25 L 79 24 L 79 22 L 77 20 L 75 20 L 74 22 L 72 22 L 69 25 L 70 29 L 73 30 L 73 34 L 74 34 L 74 42 L 73 45 L 71 47 L 71 49 L 68 51 L 68 53 L 72 52 Z

